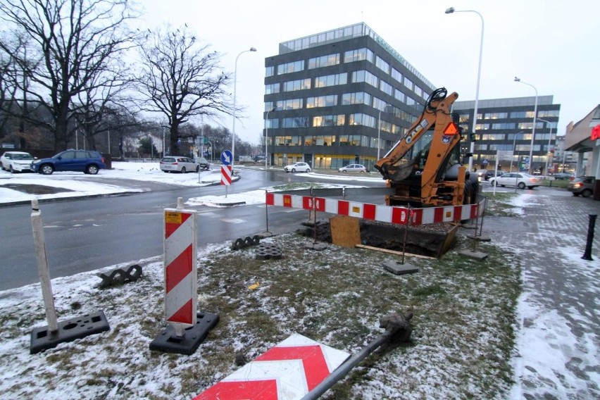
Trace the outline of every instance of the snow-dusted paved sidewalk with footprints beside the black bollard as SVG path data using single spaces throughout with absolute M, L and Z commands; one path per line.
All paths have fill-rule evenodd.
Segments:
M 491 195 L 491 194 L 489 194 Z M 522 256 L 523 294 L 511 399 L 600 398 L 600 201 L 545 189 L 517 198 L 518 218 L 486 217 L 482 236 Z

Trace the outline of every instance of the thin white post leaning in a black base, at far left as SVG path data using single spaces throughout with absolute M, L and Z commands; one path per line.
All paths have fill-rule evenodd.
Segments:
M 37 199 L 31 201 L 31 209 L 31 225 L 33 227 L 33 242 L 35 244 L 35 255 L 37 258 L 37 273 L 39 275 L 39 282 L 42 284 L 42 296 L 44 296 L 46 320 L 48 320 L 48 329 L 50 332 L 58 332 L 56 308 L 54 308 L 54 296 L 52 296 L 48 260 L 46 259 L 46 241 L 44 240 L 42 211 L 39 211 Z

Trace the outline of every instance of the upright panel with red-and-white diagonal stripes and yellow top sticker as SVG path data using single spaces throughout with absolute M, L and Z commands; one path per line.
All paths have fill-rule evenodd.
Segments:
M 177 336 L 196 324 L 197 225 L 196 211 L 165 208 L 165 321 Z

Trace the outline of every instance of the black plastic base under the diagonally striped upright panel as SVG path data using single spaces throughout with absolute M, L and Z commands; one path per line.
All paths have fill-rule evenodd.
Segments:
M 175 327 L 169 325 L 150 343 L 150 350 L 190 356 L 218 322 L 218 314 L 196 313 L 196 325 L 186 328 L 183 336 L 177 336 Z

